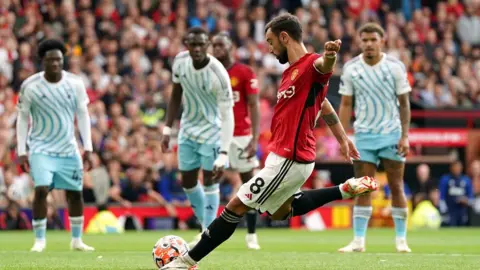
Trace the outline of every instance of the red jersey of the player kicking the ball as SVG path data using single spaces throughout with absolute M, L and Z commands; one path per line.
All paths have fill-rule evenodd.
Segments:
M 332 73 L 319 73 L 307 53 L 282 74 L 272 119 L 269 150 L 301 163 L 315 161 L 314 129 Z

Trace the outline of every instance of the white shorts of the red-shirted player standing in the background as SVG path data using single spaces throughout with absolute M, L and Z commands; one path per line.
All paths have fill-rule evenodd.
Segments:
M 250 143 L 250 140 L 252 140 L 252 135 L 237 136 L 233 138 L 232 144 L 230 145 L 228 157 L 230 167 L 240 173 L 249 172 L 259 166 L 257 156 L 247 158 L 245 148 Z

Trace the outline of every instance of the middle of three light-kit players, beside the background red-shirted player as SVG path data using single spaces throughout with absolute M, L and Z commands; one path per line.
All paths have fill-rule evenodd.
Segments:
M 171 127 L 183 97 L 178 135 L 179 169 L 195 215 L 202 228 L 207 228 L 217 217 L 220 204 L 217 180 L 228 165 L 233 139 L 232 87 L 222 63 L 207 54 L 210 42 L 204 29 L 189 29 L 185 43 L 188 51 L 179 53 L 173 62 L 174 88 L 167 108 L 162 149 L 165 152 L 169 148 Z M 198 183 L 200 168 L 203 186 Z

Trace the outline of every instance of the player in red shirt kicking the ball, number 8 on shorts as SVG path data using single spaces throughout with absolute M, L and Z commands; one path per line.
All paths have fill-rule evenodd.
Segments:
M 316 209 L 325 203 L 351 198 L 376 190 L 371 177 L 350 178 L 339 186 L 308 190 L 299 188 L 315 165 L 313 130 L 319 117 L 336 136 L 348 161 L 359 154 L 345 134 L 335 110 L 325 99 L 328 81 L 336 62 L 341 41 L 325 43 L 324 54 L 308 53 L 302 41 L 297 17 L 286 13 L 265 26 L 265 37 L 280 63 L 290 66 L 282 74 L 277 104 L 272 119 L 271 153 L 265 167 L 243 184 L 222 214 L 202 234 L 202 239 L 188 254 L 162 269 L 188 269 L 227 240 L 238 222 L 250 209 L 267 212 L 272 219 L 287 219 Z

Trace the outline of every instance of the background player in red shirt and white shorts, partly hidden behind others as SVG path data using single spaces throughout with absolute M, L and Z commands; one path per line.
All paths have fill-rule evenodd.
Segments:
M 240 173 L 243 183 L 253 177 L 253 169 L 259 165 L 256 152 L 259 133 L 258 80 L 253 70 L 242 63 L 235 62 L 231 54 L 232 40 L 227 34 L 218 34 L 212 39 L 213 56 L 227 69 L 233 90 L 233 114 L 235 130 L 230 147 L 230 167 Z M 248 233 L 245 237 L 247 247 L 260 249 L 255 225 L 257 211 L 251 209 L 246 214 Z

